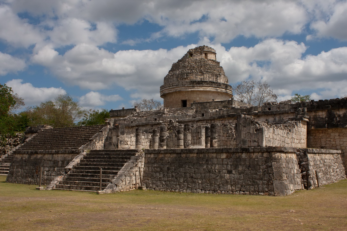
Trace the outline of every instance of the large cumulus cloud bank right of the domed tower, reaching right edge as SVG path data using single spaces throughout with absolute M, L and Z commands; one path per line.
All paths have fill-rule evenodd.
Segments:
M 231 47 L 221 51 L 221 65 L 231 84 L 253 79 L 267 81 L 281 95 L 299 90 L 322 89 L 314 99 L 336 98 L 346 94 L 347 47 L 318 55 L 302 56 L 303 43 L 267 39 L 254 47 Z

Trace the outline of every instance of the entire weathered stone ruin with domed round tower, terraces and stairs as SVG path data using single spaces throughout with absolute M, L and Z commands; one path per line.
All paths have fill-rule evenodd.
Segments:
M 263 106 L 235 101 L 208 46 L 172 65 L 161 96 L 162 110 L 111 110 L 108 124 L 88 136 L 81 131 L 92 127 L 37 132 L 14 151 L 7 181 L 36 184 L 38 167 L 66 165 L 50 176 L 48 188 L 95 191 L 102 167 L 99 193 L 137 188 L 141 174 L 153 190 L 277 196 L 304 189 L 306 173 L 309 187 L 316 186 L 316 171 L 321 185 L 346 179 L 346 98 Z M 46 142 L 50 136 L 57 142 Z

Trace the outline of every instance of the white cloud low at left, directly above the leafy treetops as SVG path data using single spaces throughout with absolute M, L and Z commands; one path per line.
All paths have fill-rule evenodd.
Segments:
M 31 83 L 22 83 L 23 79 L 12 79 L 6 82 L 14 93 L 17 93 L 24 99 L 25 106 L 38 105 L 41 102 L 54 99 L 56 96 L 66 94 L 62 88 L 34 87 Z

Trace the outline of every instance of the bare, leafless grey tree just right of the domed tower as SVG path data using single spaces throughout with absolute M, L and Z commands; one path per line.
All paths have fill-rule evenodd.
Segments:
M 263 103 L 277 101 L 277 94 L 273 93 L 267 82 L 242 81 L 233 87 L 234 99 L 247 104 L 261 106 Z

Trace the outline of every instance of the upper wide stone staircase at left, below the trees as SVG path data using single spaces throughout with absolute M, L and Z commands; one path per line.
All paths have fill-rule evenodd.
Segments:
M 74 150 L 86 144 L 106 124 L 45 129 L 24 143 L 18 151 Z

